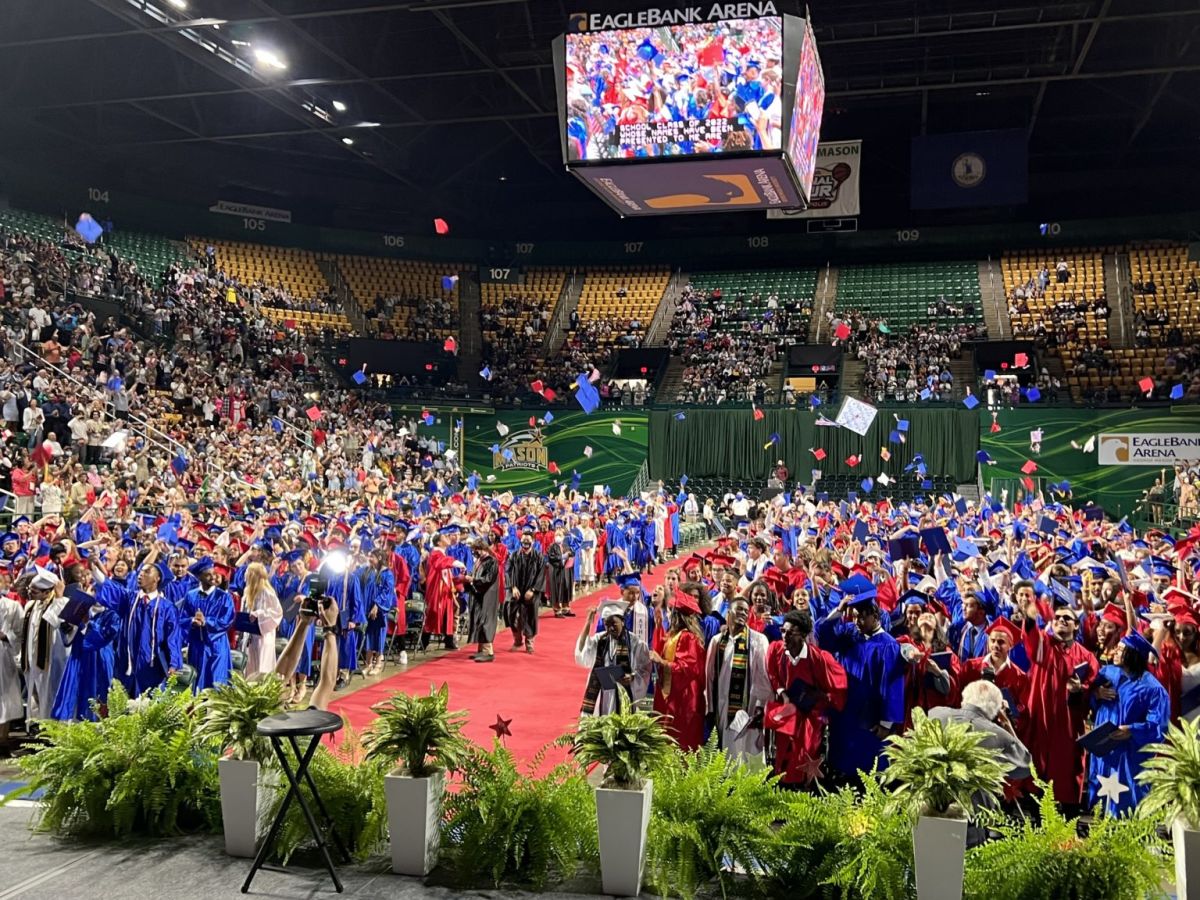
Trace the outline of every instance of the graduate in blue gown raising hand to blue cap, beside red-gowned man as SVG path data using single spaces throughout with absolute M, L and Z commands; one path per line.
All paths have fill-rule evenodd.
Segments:
M 853 780 L 876 763 L 883 769 L 883 739 L 904 726 L 905 664 L 900 644 L 882 626 L 875 587 L 854 576 L 839 586 L 841 601 L 817 624 L 817 644 L 846 670 L 846 706 L 829 716 L 829 764 Z M 853 610 L 854 620 L 846 620 Z

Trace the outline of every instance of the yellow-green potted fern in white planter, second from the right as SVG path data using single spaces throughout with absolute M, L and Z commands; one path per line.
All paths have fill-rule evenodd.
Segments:
M 912 710 L 912 728 L 888 738 L 887 784 L 912 830 L 918 900 L 961 900 L 967 817 L 998 802 L 1007 768 L 983 746 L 984 732 Z

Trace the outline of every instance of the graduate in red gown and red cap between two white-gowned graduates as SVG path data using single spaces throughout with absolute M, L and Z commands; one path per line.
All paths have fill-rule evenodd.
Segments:
M 704 659 L 707 646 L 700 628 L 700 602 L 676 590 L 670 600 L 671 628 L 660 647 L 650 650 L 658 666 L 654 712 L 666 718 L 667 732 L 679 749 L 696 750 L 704 743 Z

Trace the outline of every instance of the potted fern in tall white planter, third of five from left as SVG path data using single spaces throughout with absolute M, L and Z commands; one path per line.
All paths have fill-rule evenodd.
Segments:
M 604 782 L 596 788 L 604 893 L 637 896 L 654 794 L 647 774 L 667 757 L 673 744 L 658 715 L 632 709 L 628 698 L 620 697 L 616 712 L 580 719 L 571 744 L 580 763 L 605 767 Z

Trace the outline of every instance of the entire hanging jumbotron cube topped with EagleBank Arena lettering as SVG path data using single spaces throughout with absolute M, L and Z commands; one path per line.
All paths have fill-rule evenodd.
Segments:
M 773 2 L 576 13 L 554 60 L 563 160 L 623 216 L 806 205 L 824 82 L 804 19 Z

